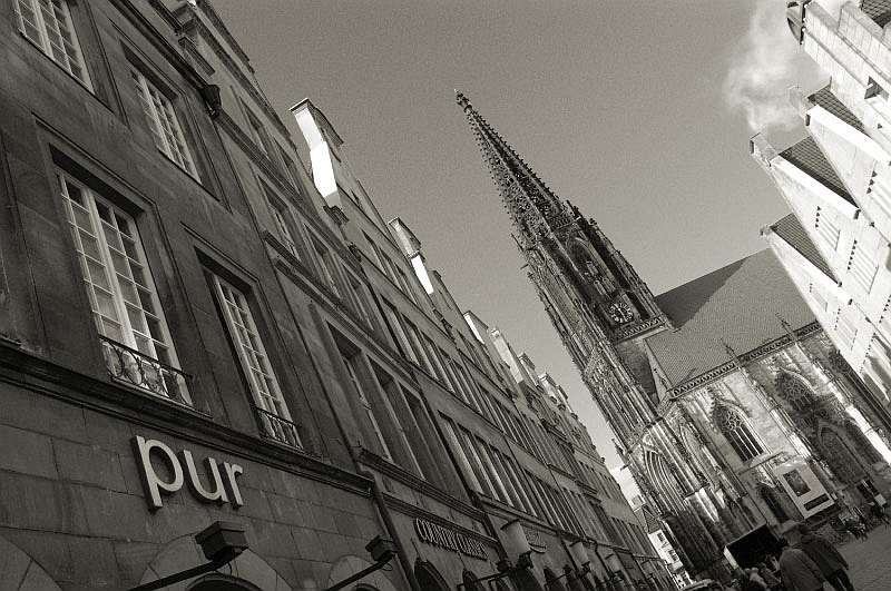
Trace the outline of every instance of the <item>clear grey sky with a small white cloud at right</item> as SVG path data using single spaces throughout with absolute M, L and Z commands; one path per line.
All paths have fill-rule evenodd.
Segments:
M 838 1 L 817 0 L 838 10 Z M 273 107 L 309 97 L 385 219 L 459 306 L 566 390 L 626 492 L 613 434 L 520 268 L 459 89 L 655 294 L 766 247 L 787 213 L 748 155 L 803 137 L 789 87 L 825 79 L 784 0 L 213 0 Z

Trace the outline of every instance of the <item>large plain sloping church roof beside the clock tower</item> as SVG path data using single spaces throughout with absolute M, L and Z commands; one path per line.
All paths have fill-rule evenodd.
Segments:
M 743 355 L 784 336 L 777 314 L 793 328 L 815 322 L 770 250 L 675 287 L 656 303 L 677 329 L 646 342 L 673 387 L 730 361 L 724 343 Z

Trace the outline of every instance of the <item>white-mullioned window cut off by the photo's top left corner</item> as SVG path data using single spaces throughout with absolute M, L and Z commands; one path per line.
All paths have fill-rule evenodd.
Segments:
M 92 90 L 68 0 L 17 0 L 16 14 L 25 37 Z

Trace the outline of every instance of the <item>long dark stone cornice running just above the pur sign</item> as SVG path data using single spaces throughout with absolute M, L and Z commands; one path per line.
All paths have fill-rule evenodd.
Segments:
M 62 367 L 0 341 L 0 378 L 67 403 L 114 416 L 131 425 L 166 433 L 199 445 L 290 472 L 302 477 L 371 495 L 371 482 L 320 456 L 258 435 L 234 430 L 214 417 L 136 388 L 117 385 Z

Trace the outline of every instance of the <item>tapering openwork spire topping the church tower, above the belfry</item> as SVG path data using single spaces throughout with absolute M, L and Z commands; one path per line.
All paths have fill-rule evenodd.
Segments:
M 532 246 L 572 219 L 567 206 L 557 198 L 498 131 L 456 90 L 458 106 L 467 115 L 492 180 L 510 215 L 520 248 Z

